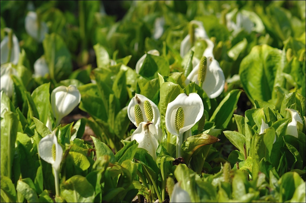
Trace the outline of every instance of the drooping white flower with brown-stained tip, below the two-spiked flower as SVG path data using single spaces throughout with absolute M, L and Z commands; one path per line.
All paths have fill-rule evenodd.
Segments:
M 158 139 L 155 125 L 150 121 L 141 122 L 131 136 L 131 141 L 136 140 L 138 147 L 147 150 L 154 160 L 157 158 Z

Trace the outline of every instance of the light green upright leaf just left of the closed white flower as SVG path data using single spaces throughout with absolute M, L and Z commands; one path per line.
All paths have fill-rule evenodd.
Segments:
M 31 94 L 38 111 L 39 120 L 46 124 L 50 112 L 50 83 L 37 87 Z

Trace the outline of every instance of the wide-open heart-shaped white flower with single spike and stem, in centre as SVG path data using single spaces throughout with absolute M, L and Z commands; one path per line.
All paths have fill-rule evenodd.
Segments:
M 183 133 L 192 128 L 198 122 L 204 111 L 202 99 L 196 93 L 179 94 L 166 109 L 166 128 L 177 136 L 177 158 L 181 156 Z

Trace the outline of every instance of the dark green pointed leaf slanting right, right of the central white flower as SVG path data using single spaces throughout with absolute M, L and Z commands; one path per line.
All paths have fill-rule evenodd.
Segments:
M 241 90 L 230 91 L 215 109 L 209 121 L 214 121 L 216 128 L 225 129 L 233 116 L 234 110 L 237 108 L 237 102 L 240 97 Z

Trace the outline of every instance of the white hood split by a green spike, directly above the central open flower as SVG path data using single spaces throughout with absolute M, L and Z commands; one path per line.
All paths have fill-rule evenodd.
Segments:
M 190 81 L 199 84 L 198 63 L 187 76 L 185 83 L 188 84 Z M 211 99 L 218 97 L 224 90 L 225 77 L 224 73 L 219 65 L 219 62 L 213 57 L 207 57 L 207 71 L 206 77 L 202 84 L 202 89 L 206 92 L 207 96 Z

